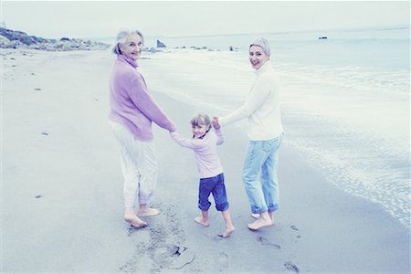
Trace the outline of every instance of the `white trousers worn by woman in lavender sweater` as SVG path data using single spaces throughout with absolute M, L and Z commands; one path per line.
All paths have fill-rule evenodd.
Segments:
M 121 171 L 124 177 L 124 205 L 127 209 L 147 204 L 157 184 L 157 159 L 153 142 L 142 142 L 125 126 L 109 121 L 111 130 L 120 143 Z

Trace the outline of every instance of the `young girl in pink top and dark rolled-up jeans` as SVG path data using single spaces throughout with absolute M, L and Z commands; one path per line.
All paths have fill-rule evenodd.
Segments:
M 179 145 L 192 149 L 195 153 L 195 161 L 200 175 L 198 208 L 201 210 L 201 216 L 196 216 L 195 222 L 205 227 L 210 225 L 208 208 L 210 208 L 211 203 L 208 201 L 208 197 L 213 194 L 216 210 L 221 211 L 226 222 L 226 230 L 220 236 L 228 237 L 234 231 L 234 226 L 228 211 L 223 166 L 216 153 L 216 146 L 224 142 L 223 135 L 219 128 L 215 129 L 216 132 L 210 132 L 211 121 L 204 113 L 195 116 L 191 120 L 191 126 L 193 131 L 193 139 L 191 140 L 184 139 L 177 132 L 170 132 L 170 135 Z

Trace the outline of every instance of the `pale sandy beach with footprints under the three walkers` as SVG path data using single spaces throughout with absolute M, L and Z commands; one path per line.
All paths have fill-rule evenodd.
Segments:
M 159 64 L 178 62 L 178 53 L 155 55 Z M 156 78 L 153 58 L 144 57 L 140 66 L 148 87 L 156 87 L 153 96 L 189 137 L 188 122 L 204 110 L 168 97 L 167 81 L 184 85 L 184 79 L 163 76 L 164 70 Z M 223 129 L 226 142 L 219 147 L 236 227 L 231 237 L 217 237 L 224 222 L 214 207 L 210 227 L 195 224 L 194 155 L 157 126 L 153 206 L 162 213 L 145 218 L 149 227 L 130 228 L 122 218 L 120 155 L 107 118 L 111 53 L 5 49 L 1 58 L 2 273 L 411 271 L 409 227 L 381 205 L 327 182 L 287 142 L 275 226 L 248 230 L 252 218 L 240 178 L 248 139 L 236 126 Z

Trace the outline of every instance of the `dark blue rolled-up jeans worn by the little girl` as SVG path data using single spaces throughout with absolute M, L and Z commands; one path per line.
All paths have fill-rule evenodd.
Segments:
M 208 201 L 210 194 L 213 194 L 216 202 L 216 210 L 226 211 L 228 209 L 228 200 L 226 186 L 224 185 L 224 174 L 218 174 L 210 178 L 201 178 L 198 190 L 198 208 L 207 211 L 211 203 Z

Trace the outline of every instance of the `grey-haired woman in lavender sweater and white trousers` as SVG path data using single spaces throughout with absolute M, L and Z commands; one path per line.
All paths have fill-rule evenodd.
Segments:
M 174 132 L 174 122 L 162 111 L 137 70 L 143 37 L 138 30 L 121 31 L 113 53 L 109 116 L 112 132 L 120 144 L 121 171 L 124 177 L 124 219 L 132 227 L 146 227 L 142 216 L 160 213 L 147 204 L 157 181 L 157 161 L 153 147 L 152 123 Z

